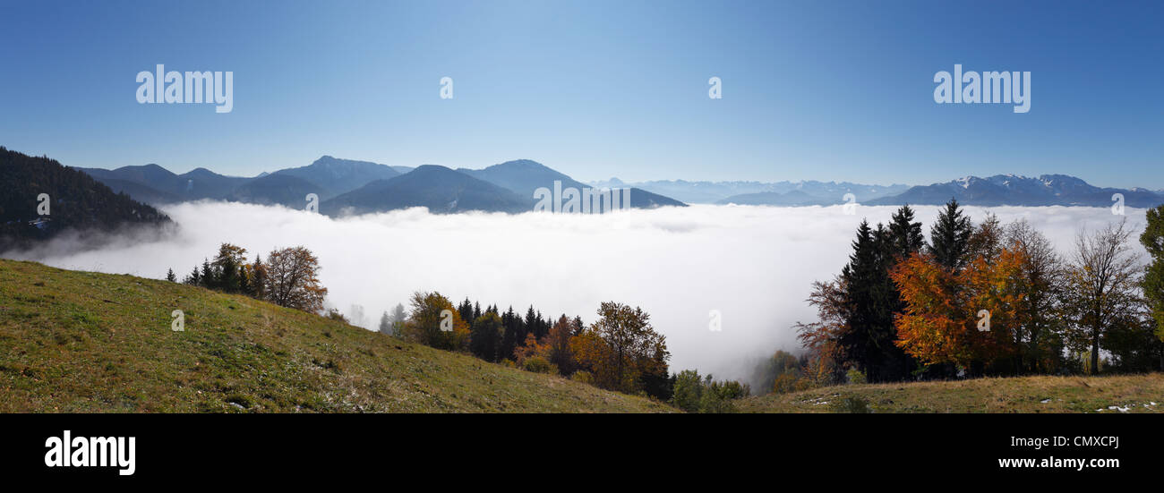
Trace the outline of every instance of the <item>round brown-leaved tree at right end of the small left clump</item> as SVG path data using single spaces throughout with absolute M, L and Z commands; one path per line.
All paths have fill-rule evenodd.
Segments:
M 278 306 L 319 313 L 327 288 L 319 284 L 319 259 L 303 246 L 267 256 L 267 299 Z

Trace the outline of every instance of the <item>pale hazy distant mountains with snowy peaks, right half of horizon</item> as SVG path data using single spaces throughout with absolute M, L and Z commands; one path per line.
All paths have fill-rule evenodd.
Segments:
M 932 185 L 863 185 L 847 181 L 686 181 L 659 180 L 625 184 L 617 178 L 595 181 L 596 186 L 636 186 L 665 193 L 690 203 L 737 203 L 762 206 L 830 206 L 845 203 L 852 193 L 865 205 L 936 206 L 957 199 L 970 206 L 1086 206 L 1108 207 L 1113 195 L 1122 194 L 1129 207 L 1154 207 L 1164 203 L 1164 191 L 1147 188 L 1098 187 L 1065 174 L 1037 178 L 996 174 L 987 178 L 965 177 Z

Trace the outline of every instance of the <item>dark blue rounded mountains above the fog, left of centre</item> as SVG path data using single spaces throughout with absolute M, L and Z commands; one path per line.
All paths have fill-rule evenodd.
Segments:
M 78 167 L 105 183 L 114 192 L 125 192 L 148 203 L 163 205 L 190 200 L 230 200 L 249 203 L 303 208 L 307 194 L 322 201 L 320 212 L 328 215 L 362 214 L 427 207 L 440 213 L 466 210 L 519 213 L 532 210 L 537 188 L 582 188 L 584 185 L 540 163 L 518 159 L 483 170 L 424 165 L 388 166 L 365 160 L 324 156 L 301 167 L 289 167 L 253 178 L 228 177 L 205 169 L 175 174 L 156 164 L 123 166 L 116 170 Z M 631 190 L 631 207 L 686 206 L 677 200 L 641 188 Z

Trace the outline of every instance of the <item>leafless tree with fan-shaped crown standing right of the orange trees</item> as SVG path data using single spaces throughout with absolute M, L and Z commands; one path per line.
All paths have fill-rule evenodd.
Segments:
M 1105 333 L 1135 317 L 1140 300 L 1138 252 L 1128 242 L 1127 220 L 1093 234 L 1080 231 L 1066 269 L 1064 307 L 1070 320 L 1070 342 L 1091 350 L 1091 373 L 1099 371 L 1100 340 Z M 1088 348 L 1090 346 L 1090 348 Z

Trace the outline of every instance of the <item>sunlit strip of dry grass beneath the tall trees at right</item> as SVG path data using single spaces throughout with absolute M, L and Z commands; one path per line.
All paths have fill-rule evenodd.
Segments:
M 751 413 L 828 413 L 835 410 L 836 403 L 853 396 L 864 398 L 874 413 L 1123 412 L 1108 406 L 1124 407 L 1128 413 L 1162 413 L 1164 374 L 843 385 L 747 398 L 739 408 Z

